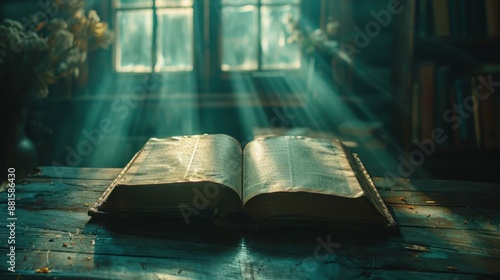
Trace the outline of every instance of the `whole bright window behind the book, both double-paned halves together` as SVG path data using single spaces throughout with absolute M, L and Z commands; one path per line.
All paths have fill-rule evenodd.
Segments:
M 217 33 L 212 30 L 196 38 L 217 36 L 217 46 L 196 47 L 204 49 L 200 52 L 203 60 L 219 70 L 299 69 L 300 51 L 287 42 L 291 35 L 289 20 L 298 17 L 299 4 L 300 0 L 115 0 L 115 70 L 194 70 L 194 44 L 203 44 L 203 40 L 194 40 L 194 22 L 209 21 L 216 21 Z M 218 16 L 194 12 L 198 8 L 215 8 Z M 210 18 L 196 21 L 195 17 Z M 198 30 L 210 32 L 210 28 Z

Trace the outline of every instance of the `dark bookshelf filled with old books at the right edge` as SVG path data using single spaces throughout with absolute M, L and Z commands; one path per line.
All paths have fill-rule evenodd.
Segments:
M 410 155 L 420 149 L 418 143 L 434 142 L 423 164 L 431 174 L 461 159 L 478 169 L 498 166 L 500 1 L 419 0 L 408 5 L 400 18 L 394 66 L 402 147 Z

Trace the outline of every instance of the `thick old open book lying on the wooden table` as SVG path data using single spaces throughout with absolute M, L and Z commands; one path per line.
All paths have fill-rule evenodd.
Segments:
M 356 154 L 338 140 L 228 135 L 151 138 L 91 216 L 208 218 L 250 228 L 388 229 L 395 221 Z

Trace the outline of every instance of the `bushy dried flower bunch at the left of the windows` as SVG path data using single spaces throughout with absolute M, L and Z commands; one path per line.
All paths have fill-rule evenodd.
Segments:
M 87 51 L 105 48 L 113 34 L 84 0 L 55 0 L 55 17 L 32 16 L 33 28 L 5 19 L 0 24 L 0 84 L 7 103 L 46 97 L 48 86 L 78 76 Z

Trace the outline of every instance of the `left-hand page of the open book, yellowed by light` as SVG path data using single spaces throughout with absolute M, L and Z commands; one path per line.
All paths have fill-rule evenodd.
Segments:
M 151 138 L 119 184 L 210 181 L 241 198 L 241 161 L 240 144 L 228 135 Z

